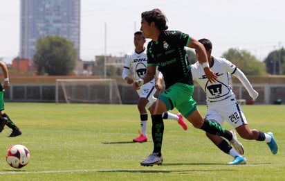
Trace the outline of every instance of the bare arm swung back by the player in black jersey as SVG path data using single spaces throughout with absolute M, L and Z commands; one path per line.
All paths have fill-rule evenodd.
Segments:
M 201 60 L 201 64 L 205 71 L 205 75 L 207 76 L 210 83 L 216 82 L 218 80 L 218 77 L 210 69 L 207 53 L 205 51 L 205 47 L 203 46 L 203 44 L 201 44 L 200 42 L 191 37 L 190 42 L 188 43 L 187 46 L 192 49 L 196 49 L 196 51 L 199 53 L 199 59 Z

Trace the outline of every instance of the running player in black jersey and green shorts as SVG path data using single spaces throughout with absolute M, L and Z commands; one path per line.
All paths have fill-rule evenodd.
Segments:
M 225 137 L 232 142 L 235 148 L 243 150 L 243 146 L 237 140 L 235 132 L 225 130 L 213 121 L 204 120 L 196 107 L 196 101 L 192 98 L 194 85 L 185 46 L 199 51 L 202 60 L 201 66 L 210 83 L 217 80 L 217 76 L 209 67 L 203 44 L 181 31 L 167 31 L 166 22 L 165 15 L 159 9 L 145 11 L 141 14 L 140 31 L 143 31 L 145 37 L 150 38 L 151 41 L 147 45 L 147 73 L 141 80 L 134 82 L 133 87 L 134 89 L 140 89 L 141 85 L 153 80 L 158 67 L 165 80 L 165 91 L 149 107 L 154 150 L 140 164 L 142 166 L 163 164 L 161 147 L 163 144 L 164 123 L 162 114 L 174 107 L 192 123 L 194 128 Z

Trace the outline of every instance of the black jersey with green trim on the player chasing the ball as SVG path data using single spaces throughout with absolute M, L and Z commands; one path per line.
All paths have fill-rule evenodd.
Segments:
M 147 64 L 156 65 L 168 88 L 174 83 L 193 85 L 190 62 L 185 46 L 190 36 L 181 31 L 161 31 L 158 41 L 147 45 Z

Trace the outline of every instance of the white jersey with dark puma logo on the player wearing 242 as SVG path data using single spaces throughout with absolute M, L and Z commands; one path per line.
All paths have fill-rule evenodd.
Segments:
M 215 83 L 210 83 L 199 62 L 192 64 L 191 68 L 193 80 L 199 83 L 206 94 L 207 104 L 235 98 L 229 83 L 228 73 L 234 74 L 237 67 L 225 58 L 212 57 L 212 61 L 213 66 L 210 68 L 218 76 L 218 80 Z

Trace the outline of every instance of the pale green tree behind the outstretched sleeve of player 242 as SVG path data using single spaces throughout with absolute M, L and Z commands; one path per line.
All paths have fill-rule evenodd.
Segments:
M 246 50 L 229 49 L 222 55 L 223 58 L 230 60 L 247 76 L 264 76 L 266 75 L 265 64 L 259 62 L 255 56 L 250 55 Z

